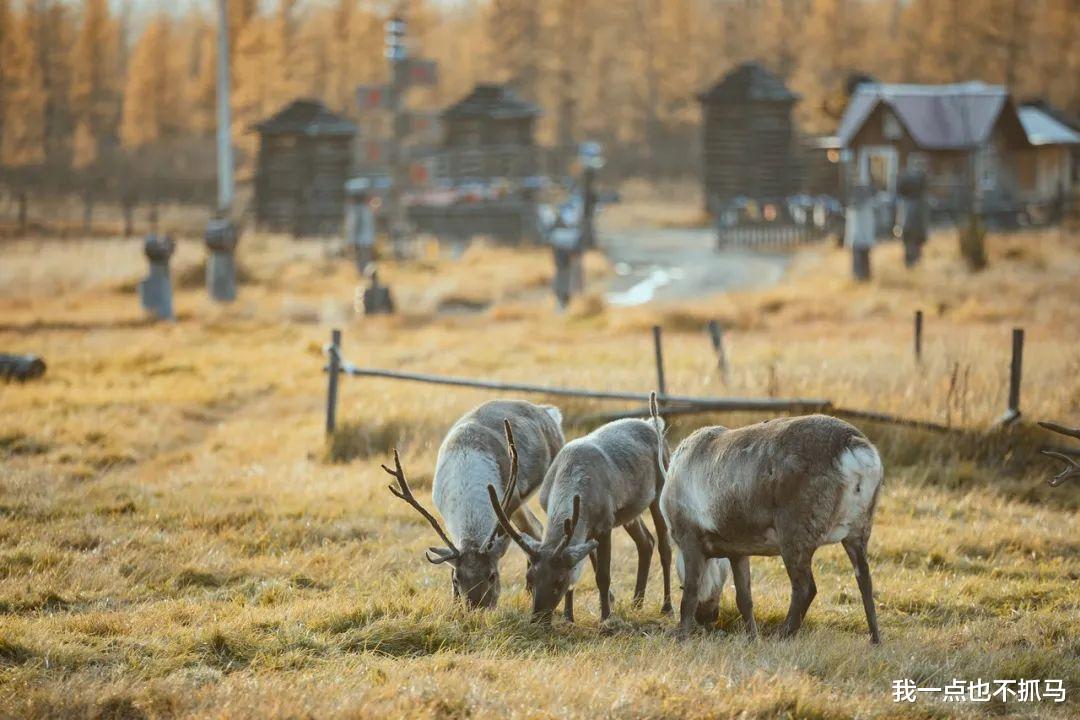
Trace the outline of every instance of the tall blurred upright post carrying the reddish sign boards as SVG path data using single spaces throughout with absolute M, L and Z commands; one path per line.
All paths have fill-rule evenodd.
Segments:
M 389 150 L 390 193 L 389 207 L 390 244 L 394 255 L 402 257 L 403 243 L 407 233 L 405 218 L 405 186 L 408 171 L 405 162 L 405 137 L 408 134 L 408 116 L 405 113 L 405 90 L 408 86 L 408 51 L 405 49 L 405 15 L 399 10 L 387 21 L 386 56 L 390 63 L 390 81 L 387 83 L 387 104 L 393 127 Z

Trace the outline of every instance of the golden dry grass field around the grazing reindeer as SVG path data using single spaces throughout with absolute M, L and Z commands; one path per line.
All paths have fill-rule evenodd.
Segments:
M 323 245 L 245 237 L 229 308 L 199 287 L 202 253 L 181 241 L 179 320 L 151 325 L 137 243 L 0 246 L 0 350 L 49 362 L 40 381 L 0 385 L 0 716 L 1076 716 L 1080 488 L 1045 486 L 1054 466 L 1034 450 L 1052 438 L 1031 422 L 1080 421 L 1080 236 L 993 237 L 976 276 L 951 234 L 913 272 L 883 247 L 862 286 L 842 252 L 819 247 L 770 290 L 625 310 L 593 295 L 565 314 L 546 253 L 431 254 L 383 267 L 406 312 L 378 320 L 353 316 L 355 272 Z M 589 268 L 598 285 L 605 263 Z M 702 330 L 713 317 L 728 328 L 726 384 Z M 468 612 L 379 462 L 397 445 L 430 502 L 443 433 L 491 395 L 347 378 L 342 427 L 323 437 L 332 326 L 360 365 L 644 392 L 653 323 L 673 392 L 826 397 L 958 429 L 860 423 L 886 463 L 870 543 L 881 646 L 839 546 L 819 552 L 819 595 L 789 641 L 773 637 L 779 559 L 753 562 L 759 640 L 741 634 L 729 589 L 719 629 L 678 643 L 656 566 L 645 608 L 630 607 L 623 533 L 617 622 L 598 627 L 586 576 L 576 625 L 531 625 L 516 549 L 498 610 Z M 1013 326 L 1027 331 L 1024 423 L 990 432 Z M 558 404 L 571 436 L 611 407 Z M 672 439 L 758 419 L 678 419 Z M 896 704 L 902 678 L 1061 679 L 1068 698 Z

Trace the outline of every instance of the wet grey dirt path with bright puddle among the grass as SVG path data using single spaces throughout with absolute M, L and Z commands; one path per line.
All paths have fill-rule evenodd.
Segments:
M 780 254 L 717 252 L 708 228 L 602 232 L 600 246 L 616 269 L 606 298 L 612 305 L 774 285 L 791 260 Z

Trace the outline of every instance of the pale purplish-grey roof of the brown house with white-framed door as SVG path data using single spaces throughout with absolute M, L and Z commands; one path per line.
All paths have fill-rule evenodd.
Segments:
M 1001 85 L 860 84 L 840 119 L 837 136 L 851 144 L 879 105 L 889 107 L 912 139 L 928 150 L 962 150 L 984 144 L 1002 109 L 1012 108 Z

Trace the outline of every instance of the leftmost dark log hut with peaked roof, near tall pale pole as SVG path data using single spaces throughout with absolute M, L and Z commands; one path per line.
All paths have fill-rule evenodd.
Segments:
M 256 226 L 295 236 L 340 233 L 356 126 L 318 100 L 298 99 L 254 130 Z

